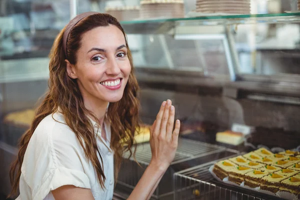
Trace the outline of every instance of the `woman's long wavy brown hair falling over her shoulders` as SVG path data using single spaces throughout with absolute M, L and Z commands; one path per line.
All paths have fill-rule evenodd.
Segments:
M 67 41 L 67 58 L 70 63 L 76 63 L 76 52 L 80 47 L 82 34 L 98 26 L 108 26 L 109 24 L 118 27 L 124 34 L 126 46 L 127 39 L 120 23 L 111 15 L 96 13 L 89 15 L 80 20 L 70 31 Z M 49 114 L 57 111 L 58 107 L 64 115 L 65 123 L 73 130 L 80 145 L 82 146 L 85 156 L 91 161 L 101 187 L 104 187 L 105 175 L 101 168 L 100 160 L 102 157 L 96 144 L 96 134 L 94 128 L 88 119 L 88 115 L 96 117 L 84 107 L 83 98 L 80 93 L 77 81 L 67 75 L 65 55 L 63 51 L 63 33 L 65 27 L 60 31 L 54 40 L 51 52 L 49 54 L 49 90 L 46 92 L 44 99 L 36 109 L 34 119 L 28 129 L 20 139 L 20 147 L 17 159 L 12 163 L 10 169 L 10 182 L 12 184 L 11 195 L 18 191 L 19 179 L 21 175 L 21 165 L 28 142 L 39 124 L 39 122 Z M 114 150 L 114 178 L 116 179 L 122 153 L 130 151 L 130 155 L 135 153 L 131 150 L 134 145 L 134 132 L 139 128 L 139 98 L 138 84 L 133 74 L 133 63 L 130 50 L 128 48 L 128 58 L 131 65 L 131 72 L 124 89 L 122 98 L 117 102 L 109 103 L 107 117 L 111 124 L 111 148 Z M 83 141 L 82 141 L 83 139 Z M 121 143 L 121 140 L 123 141 Z M 85 145 L 88 144 L 88 145 Z M 124 145 L 125 144 L 125 145 Z M 125 147 L 124 147 L 125 146 Z M 134 148 L 135 149 L 135 148 Z M 97 155 L 100 156 L 100 160 Z

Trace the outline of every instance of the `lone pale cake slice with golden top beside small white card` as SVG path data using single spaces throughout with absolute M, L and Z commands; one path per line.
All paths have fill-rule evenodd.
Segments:
M 215 135 L 215 140 L 231 145 L 238 145 L 243 143 L 244 135 L 241 132 L 233 132 L 231 130 L 226 130 L 224 132 L 217 132 Z

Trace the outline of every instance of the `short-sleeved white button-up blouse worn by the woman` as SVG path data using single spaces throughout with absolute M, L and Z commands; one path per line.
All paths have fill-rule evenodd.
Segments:
M 65 124 L 63 115 L 55 112 L 53 117 L 50 114 L 41 120 L 30 138 L 21 166 L 17 200 L 54 200 L 51 190 L 62 185 L 88 188 L 94 199 L 112 199 L 114 177 L 110 124 L 104 120 L 105 141 L 101 137 L 101 128 L 91 121 L 95 132 L 98 130 L 97 146 L 103 159 L 105 188 L 100 187 L 91 162 L 85 157 L 74 132 Z

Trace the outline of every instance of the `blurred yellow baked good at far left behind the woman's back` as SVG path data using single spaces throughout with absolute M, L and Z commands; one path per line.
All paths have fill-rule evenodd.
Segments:
M 34 118 L 34 110 L 26 109 L 22 111 L 16 111 L 8 113 L 4 117 L 4 123 L 11 124 L 18 127 L 28 128 Z

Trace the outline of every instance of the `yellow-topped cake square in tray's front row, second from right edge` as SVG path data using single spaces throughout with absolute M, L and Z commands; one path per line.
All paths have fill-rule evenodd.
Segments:
M 281 181 L 287 179 L 287 176 L 278 175 L 277 173 L 270 173 L 261 178 L 260 189 L 268 190 L 276 193 L 281 186 Z

